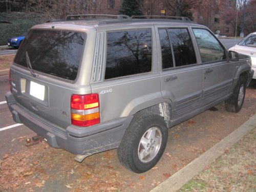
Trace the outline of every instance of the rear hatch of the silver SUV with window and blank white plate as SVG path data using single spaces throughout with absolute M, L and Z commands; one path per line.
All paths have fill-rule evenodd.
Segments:
M 20 107 L 60 129 L 71 124 L 72 94 L 91 93 L 90 86 L 81 93 L 75 83 L 86 37 L 81 32 L 30 30 L 11 67 L 12 93 Z

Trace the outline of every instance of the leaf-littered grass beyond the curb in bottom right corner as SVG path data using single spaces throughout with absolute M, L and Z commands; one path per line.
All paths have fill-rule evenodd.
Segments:
M 255 191 L 256 128 L 179 191 Z

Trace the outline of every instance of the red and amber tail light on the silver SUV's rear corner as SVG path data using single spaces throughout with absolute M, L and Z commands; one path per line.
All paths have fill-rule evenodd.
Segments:
M 76 126 L 90 126 L 100 122 L 99 95 L 72 95 L 71 122 Z

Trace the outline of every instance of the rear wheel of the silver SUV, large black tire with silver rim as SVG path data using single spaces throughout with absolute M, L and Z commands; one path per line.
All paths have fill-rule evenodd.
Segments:
M 135 173 L 154 167 L 165 150 L 168 130 L 164 119 L 156 114 L 137 114 L 117 148 L 122 165 Z

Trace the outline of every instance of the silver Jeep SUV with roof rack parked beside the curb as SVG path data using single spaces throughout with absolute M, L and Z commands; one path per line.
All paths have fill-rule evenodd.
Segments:
M 239 112 L 252 75 L 249 58 L 183 17 L 70 15 L 30 30 L 6 100 L 14 121 L 77 161 L 117 148 L 142 173 L 161 158 L 168 127 L 223 101 Z

